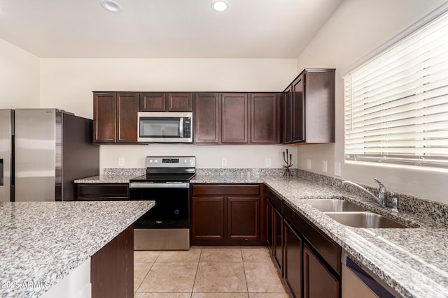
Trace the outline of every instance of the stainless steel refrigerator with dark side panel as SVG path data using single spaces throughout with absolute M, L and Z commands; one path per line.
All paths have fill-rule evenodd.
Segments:
M 0 110 L 0 202 L 74 200 L 99 174 L 92 120 L 57 109 Z

